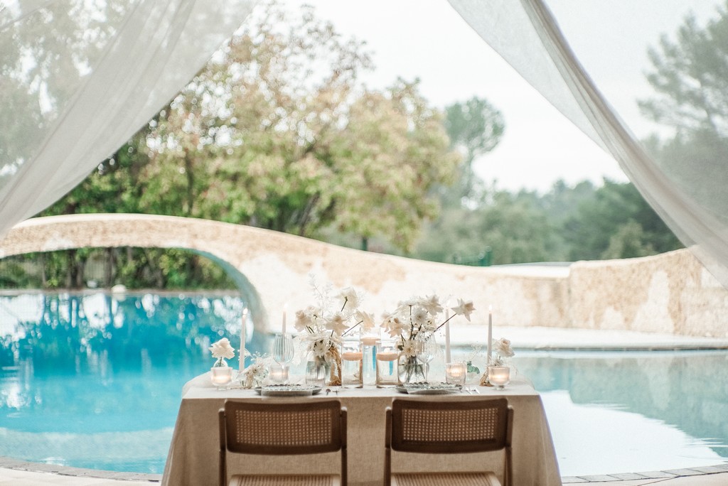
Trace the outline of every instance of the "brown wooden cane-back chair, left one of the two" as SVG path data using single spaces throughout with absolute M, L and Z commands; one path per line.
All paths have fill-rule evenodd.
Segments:
M 220 422 L 220 486 L 347 484 L 347 409 L 338 400 L 290 403 L 226 400 Z M 334 475 L 234 475 L 227 482 L 227 453 L 290 455 L 341 450 Z

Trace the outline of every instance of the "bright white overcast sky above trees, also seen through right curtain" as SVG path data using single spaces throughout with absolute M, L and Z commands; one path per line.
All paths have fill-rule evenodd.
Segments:
M 364 78 L 368 86 L 386 87 L 397 76 L 419 77 L 424 96 L 440 108 L 472 96 L 484 97 L 495 105 L 505 117 L 506 132 L 499 146 L 476 162 L 476 172 L 487 182 L 496 180 L 499 188 L 512 191 L 527 188 L 543 193 L 560 178 L 569 184 L 581 180 L 601 183 L 605 177 L 627 180 L 611 156 L 523 81 L 447 1 L 297 1 L 313 4 L 317 15 L 331 20 L 344 36 L 367 42 L 376 64 L 376 72 Z M 637 2 L 639 12 L 652 12 L 649 18 L 657 20 L 651 25 L 644 22 L 646 17 L 634 17 L 625 10 L 635 8 L 632 0 L 549 2 L 567 38 L 573 39 L 577 55 L 593 54 L 590 58 L 597 60 L 593 64 L 584 63 L 590 72 L 594 69 L 594 79 L 600 87 L 604 86 L 603 91 L 612 104 L 624 110 L 625 119 L 637 116 L 636 105 L 633 98 L 610 97 L 610 93 L 618 98 L 625 92 L 621 89 L 625 78 L 613 76 L 613 63 L 619 63 L 620 75 L 630 74 L 631 83 L 644 82 L 641 71 L 644 71 L 646 45 L 656 44 L 660 33 L 674 33 L 689 8 L 704 3 L 703 11 L 714 12 L 712 5 L 716 3 L 714 0 L 680 1 L 676 6 L 678 1 Z M 605 15 L 634 20 L 620 21 L 619 29 L 615 30 L 614 25 L 600 21 Z M 633 28 L 638 35 L 625 36 L 628 28 Z M 620 56 L 625 52 L 641 54 L 636 62 L 620 63 Z M 604 81 L 604 85 L 599 81 Z M 644 127 L 643 130 L 632 128 L 638 135 L 647 131 Z

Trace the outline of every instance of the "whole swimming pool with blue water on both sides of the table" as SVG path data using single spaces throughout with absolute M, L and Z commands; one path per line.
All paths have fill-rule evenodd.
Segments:
M 181 387 L 212 364 L 212 340 L 239 345 L 243 306 L 235 295 L 0 296 L 0 455 L 161 473 Z M 248 347 L 267 351 L 250 331 Z M 565 476 L 728 458 L 726 351 L 517 350 L 514 364 L 542 393 Z

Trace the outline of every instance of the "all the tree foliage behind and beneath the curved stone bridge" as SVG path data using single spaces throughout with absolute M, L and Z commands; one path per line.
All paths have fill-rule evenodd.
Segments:
M 559 181 L 546 194 L 486 185 L 474 164 L 505 132 L 497 108 L 473 97 L 440 113 L 418 80 L 367 89 L 359 79 L 371 66 L 363 43 L 343 39 L 312 7 L 265 4 L 148 126 L 42 215 L 207 218 L 446 262 L 486 247 L 495 264 L 680 247 L 631 184 Z M 655 119 L 667 116 L 662 108 L 644 105 Z M 705 132 L 699 125 L 655 145 L 678 151 Z M 82 287 L 98 260 L 103 287 L 234 287 L 197 255 L 132 248 L 43 254 L 41 284 Z M 0 272 L 0 284 L 27 285 L 19 268 Z

